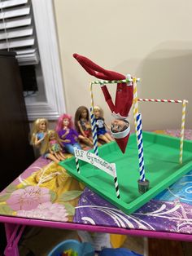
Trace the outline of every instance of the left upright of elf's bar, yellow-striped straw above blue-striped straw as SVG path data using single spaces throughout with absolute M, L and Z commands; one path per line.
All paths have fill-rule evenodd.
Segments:
M 90 121 L 91 121 L 91 130 L 94 141 L 94 153 L 98 156 L 98 135 L 94 118 L 94 94 L 93 94 L 93 83 L 90 82 L 90 99 L 91 99 L 91 107 L 90 107 Z

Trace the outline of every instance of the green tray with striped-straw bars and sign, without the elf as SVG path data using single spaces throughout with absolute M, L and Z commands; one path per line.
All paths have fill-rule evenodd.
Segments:
M 185 165 L 177 166 L 175 156 L 177 155 L 178 139 L 169 139 L 166 136 L 164 137 L 160 135 L 151 135 L 150 133 L 146 132 L 142 133 L 142 114 L 138 112 L 138 101 L 183 104 L 180 139 L 181 163 L 183 157 L 183 139 L 185 128 L 185 105 L 188 102 L 186 100 L 172 99 L 138 99 L 137 82 L 139 81 L 139 78 L 133 77 L 133 79 L 124 79 L 117 81 L 114 80 L 90 82 L 90 120 L 94 140 L 94 152 L 86 152 L 77 148 L 75 149 L 76 173 L 74 173 L 73 171 L 75 166 L 73 165 L 72 160 L 64 161 L 61 164 L 65 169 L 68 170 L 69 174 L 72 174 L 76 177 L 76 179 L 79 179 L 81 182 L 85 183 L 86 186 L 93 189 L 95 192 L 98 192 L 99 195 L 103 196 L 108 201 L 119 207 L 120 210 L 123 210 L 126 214 L 133 213 L 133 211 L 137 210 L 139 207 L 141 207 L 143 204 L 153 198 L 153 196 L 157 195 L 158 192 L 161 192 L 164 188 L 167 188 L 168 185 L 175 182 L 178 178 L 181 177 L 182 174 L 185 174 L 189 170 L 191 163 L 190 148 L 192 148 L 192 143 L 186 143 L 185 160 L 187 161 L 185 161 Z M 103 145 L 103 147 L 99 148 L 98 150 L 98 138 L 93 111 L 93 85 L 99 84 L 103 86 L 107 83 L 111 84 L 125 82 L 133 82 L 133 117 L 136 136 L 130 136 L 129 150 L 124 155 L 122 155 L 122 152 L 120 152 L 115 142 Z M 145 145 L 147 148 L 147 152 L 145 155 L 146 165 L 147 168 L 150 169 L 147 170 L 148 179 L 146 179 L 145 174 L 144 147 L 142 136 L 144 136 Z M 108 161 L 102 158 L 104 156 L 104 159 L 108 159 Z M 161 161 L 159 161 L 159 159 L 161 159 Z M 79 160 L 87 162 L 88 164 L 79 162 Z M 159 167 L 156 164 L 157 161 L 159 162 Z M 94 167 L 91 167 L 90 165 Z M 129 166 L 129 174 L 126 172 L 127 166 Z M 137 179 L 137 173 L 135 173 L 134 171 L 137 169 L 137 166 L 139 169 L 139 179 Z M 97 169 L 95 169 L 95 167 L 97 167 Z M 120 188 L 117 181 L 116 168 L 118 168 L 118 175 L 120 175 Z M 113 177 L 113 189 L 115 188 L 116 190 L 116 197 L 111 190 L 112 187 L 110 176 Z M 125 177 L 126 179 L 124 179 Z M 135 186 L 135 182 L 137 186 Z M 105 189 L 101 190 L 100 186 L 103 186 L 102 188 Z

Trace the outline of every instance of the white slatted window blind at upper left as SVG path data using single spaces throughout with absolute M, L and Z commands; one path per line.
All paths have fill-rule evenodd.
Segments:
M 0 0 L 0 50 L 15 51 L 20 65 L 38 64 L 30 0 Z

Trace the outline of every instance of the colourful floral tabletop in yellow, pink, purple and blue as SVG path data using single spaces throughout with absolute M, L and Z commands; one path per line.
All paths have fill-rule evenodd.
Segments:
M 157 132 L 179 135 L 179 130 Z M 185 130 L 185 137 L 192 139 L 192 130 Z M 126 215 L 84 188 L 61 166 L 40 157 L 0 193 L 0 215 L 191 234 L 191 183 L 192 166 L 177 183 Z

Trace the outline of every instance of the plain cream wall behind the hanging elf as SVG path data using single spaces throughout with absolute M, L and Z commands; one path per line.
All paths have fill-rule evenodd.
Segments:
M 72 58 L 76 52 L 103 68 L 140 77 L 141 98 L 188 99 L 186 128 L 192 128 L 191 0 L 54 3 L 68 113 L 74 115 L 80 105 L 89 107 L 89 82 L 94 80 Z M 111 113 L 99 86 L 94 86 L 94 102 L 109 122 Z M 139 110 L 144 130 L 181 126 L 181 104 L 140 103 Z

